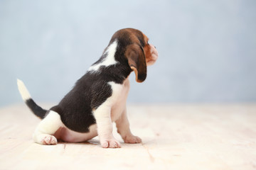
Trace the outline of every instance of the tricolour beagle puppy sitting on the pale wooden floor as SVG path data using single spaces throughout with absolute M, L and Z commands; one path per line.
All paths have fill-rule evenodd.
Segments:
M 102 147 L 118 148 L 120 143 L 112 135 L 113 122 L 125 143 L 142 142 L 129 129 L 126 101 L 129 74 L 134 71 L 136 81 L 143 82 L 146 66 L 157 60 L 156 47 L 148 41 L 140 30 L 118 30 L 102 57 L 48 111 L 38 106 L 23 82 L 17 80 L 23 101 L 42 119 L 33 134 L 34 142 L 41 145 L 56 145 L 58 140 L 85 142 L 98 135 Z

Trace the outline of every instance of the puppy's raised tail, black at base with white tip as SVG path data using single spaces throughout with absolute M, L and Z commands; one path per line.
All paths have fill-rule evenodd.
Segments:
M 21 97 L 23 101 L 25 101 L 26 105 L 28 108 L 31 109 L 31 111 L 38 116 L 39 118 L 43 119 L 46 115 L 46 110 L 38 106 L 35 101 L 31 98 L 31 95 L 28 92 L 28 89 L 26 89 L 25 84 L 23 84 L 23 81 L 17 79 L 17 84 L 18 84 L 18 91 L 21 94 Z

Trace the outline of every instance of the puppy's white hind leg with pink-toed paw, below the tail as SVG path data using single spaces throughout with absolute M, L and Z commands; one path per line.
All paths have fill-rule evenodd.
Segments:
M 41 145 L 56 145 L 57 139 L 53 134 L 63 126 L 60 115 L 55 111 L 50 111 L 46 118 L 38 124 L 34 134 L 34 142 Z

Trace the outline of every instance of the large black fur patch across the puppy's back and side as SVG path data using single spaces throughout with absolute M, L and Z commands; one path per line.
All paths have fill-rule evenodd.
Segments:
M 74 88 L 60 101 L 58 106 L 50 108 L 60 114 L 64 125 L 76 132 L 89 132 L 90 125 L 96 123 L 92 110 L 97 109 L 112 96 L 110 81 L 122 84 L 131 69 L 122 64 L 100 67 L 97 72 L 87 72 L 77 81 Z

